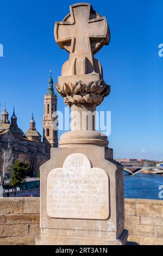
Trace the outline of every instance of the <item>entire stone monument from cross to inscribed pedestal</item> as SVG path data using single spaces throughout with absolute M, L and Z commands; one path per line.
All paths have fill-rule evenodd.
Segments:
M 40 168 L 41 235 L 38 245 L 125 245 L 123 166 L 107 137 L 95 129 L 96 106 L 110 93 L 94 54 L 109 44 L 105 17 L 91 4 L 70 6 L 54 27 L 70 53 L 55 87 L 71 107 L 72 129 Z

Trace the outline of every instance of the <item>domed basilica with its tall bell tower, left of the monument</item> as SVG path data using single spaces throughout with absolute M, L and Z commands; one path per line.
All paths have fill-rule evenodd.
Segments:
M 58 147 L 58 132 L 53 131 L 53 112 L 57 110 L 57 96 L 54 94 L 52 74 L 48 81 L 48 90 L 44 97 L 43 139 L 36 130 L 34 116 L 26 133 L 18 127 L 15 109 L 9 121 L 4 105 L 0 120 L 0 170 L 2 170 L 2 148 L 11 149 L 14 160 L 29 164 L 29 175 L 33 176 L 41 164 L 50 158 L 51 147 Z

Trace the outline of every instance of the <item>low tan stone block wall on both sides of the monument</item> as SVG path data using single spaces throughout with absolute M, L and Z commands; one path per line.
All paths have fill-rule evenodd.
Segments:
M 0 198 L 0 245 L 34 245 L 40 198 Z M 128 241 L 163 245 L 163 200 L 125 199 Z

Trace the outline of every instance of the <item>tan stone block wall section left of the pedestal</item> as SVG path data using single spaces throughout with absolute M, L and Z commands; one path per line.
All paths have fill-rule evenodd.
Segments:
M 39 211 L 40 198 L 0 198 L 0 245 L 34 245 Z

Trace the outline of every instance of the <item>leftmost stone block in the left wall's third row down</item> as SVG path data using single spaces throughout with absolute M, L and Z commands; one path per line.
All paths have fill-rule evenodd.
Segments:
M 0 237 L 28 235 L 28 225 L 0 225 Z

